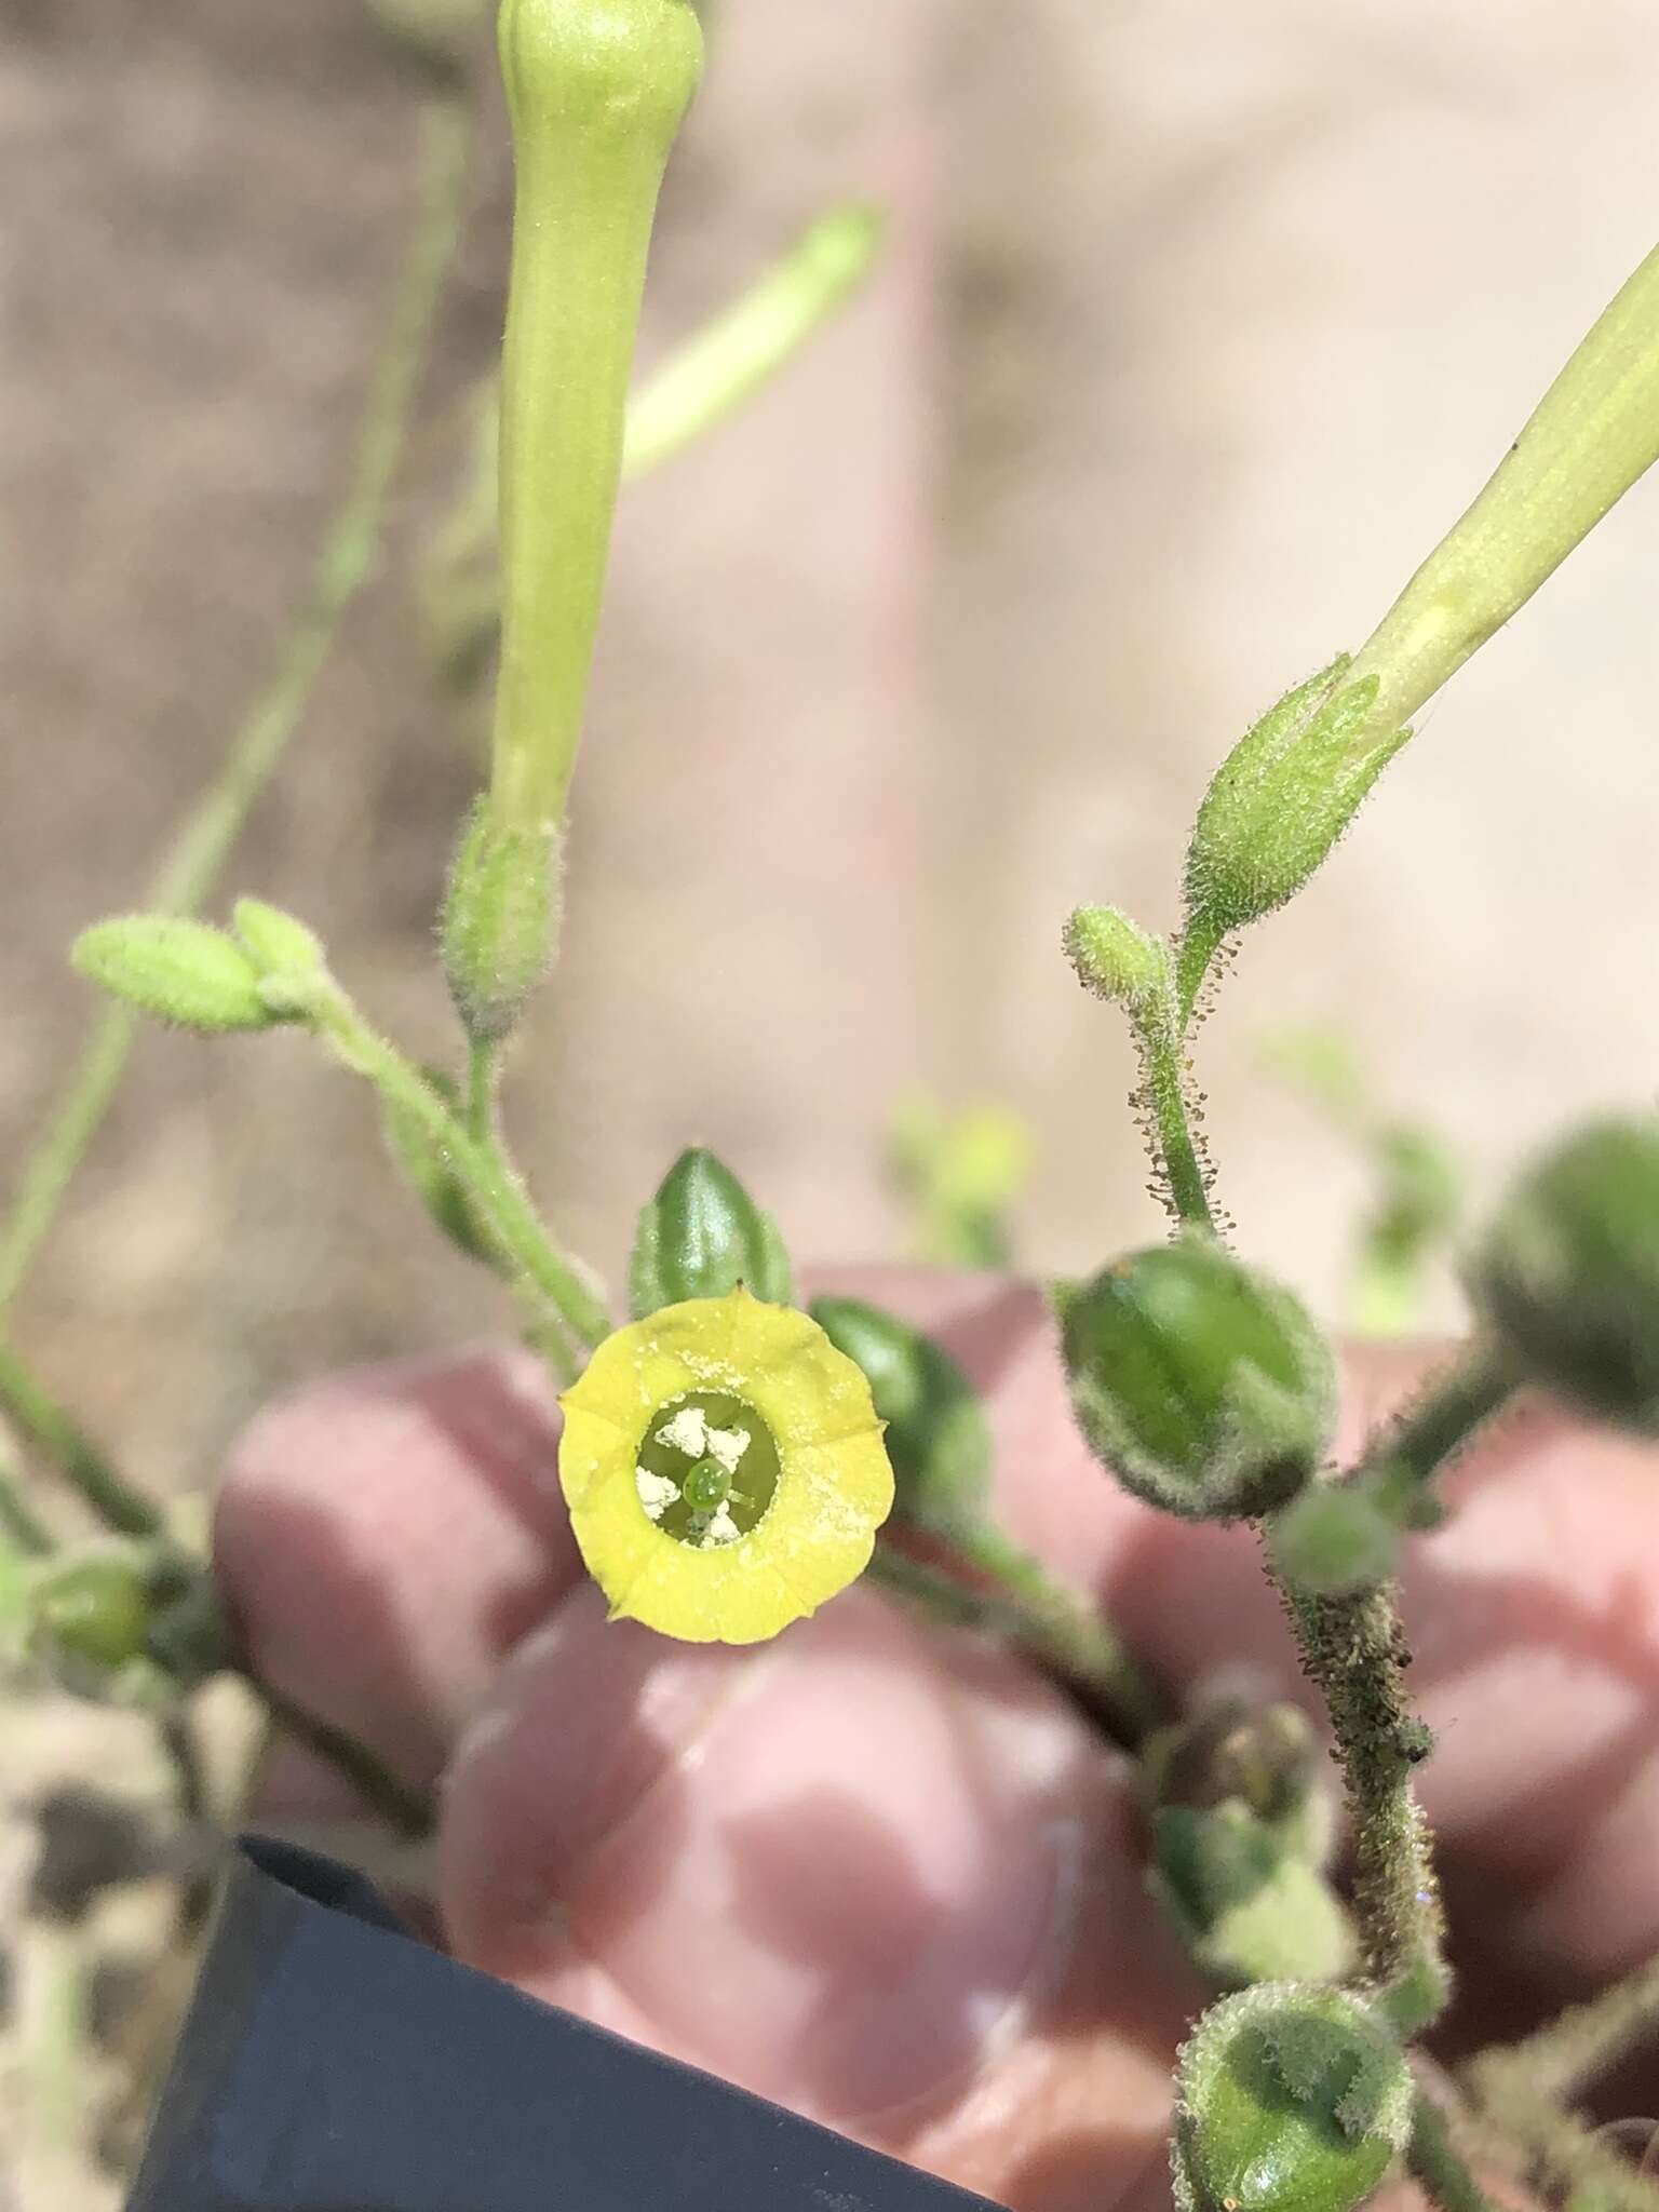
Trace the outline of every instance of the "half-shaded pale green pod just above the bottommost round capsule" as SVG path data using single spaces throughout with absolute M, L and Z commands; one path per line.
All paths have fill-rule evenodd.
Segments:
M 1354 1924 L 1321 1869 L 1239 1798 L 1152 1814 L 1148 1885 L 1194 1966 L 1221 1989 L 1334 1982 Z

